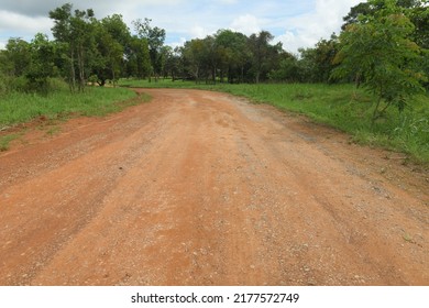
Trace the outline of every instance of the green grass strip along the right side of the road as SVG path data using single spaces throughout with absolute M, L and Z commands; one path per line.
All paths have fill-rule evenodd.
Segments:
M 429 166 L 429 97 L 419 96 L 402 114 L 388 109 L 384 119 L 372 123 L 375 98 L 352 85 L 196 85 L 191 81 L 121 80 L 125 87 L 196 88 L 245 97 L 305 114 L 315 122 L 349 133 L 354 142 L 382 146 L 407 154 Z

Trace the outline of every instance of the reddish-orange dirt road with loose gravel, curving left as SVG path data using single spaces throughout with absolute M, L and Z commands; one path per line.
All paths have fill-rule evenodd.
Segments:
M 223 94 L 30 129 L 0 153 L 0 285 L 429 285 L 429 179 Z

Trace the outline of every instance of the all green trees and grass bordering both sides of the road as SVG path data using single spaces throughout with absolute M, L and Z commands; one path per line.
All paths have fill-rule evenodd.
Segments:
M 48 12 L 53 41 L 42 33 L 31 42 L 12 37 L 0 51 L 0 130 L 37 117 L 116 111 L 117 101 L 135 96 L 118 82 L 193 87 L 304 113 L 427 164 L 428 4 L 362 2 L 341 33 L 293 54 L 267 31 L 222 29 L 172 48 L 147 18 L 130 30 L 122 15 L 98 19 L 66 3 Z

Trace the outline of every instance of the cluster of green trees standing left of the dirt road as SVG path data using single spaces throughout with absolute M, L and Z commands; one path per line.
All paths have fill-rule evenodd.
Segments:
M 131 34 L 122 15 L 101 20 L 91 9 L 74 10 L 67 3 L 50 12 L 54 41 L 37 33 L 31 42 L 10 38 L 0 51 L 0 92 L 48 92 L 53 79 L 64 79 L 72 91 L 92 82 L 105 86 L 121 77 L 157 75 L 165 31 L 151 20 L 136 20 Z

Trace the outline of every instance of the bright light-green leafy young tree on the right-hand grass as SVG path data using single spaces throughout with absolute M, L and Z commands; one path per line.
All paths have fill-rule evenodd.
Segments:
M 369 3 L 375 6 L 378 1 Z M 391 106 L 404 110 L 409 98 L 424 90 L 420 81 L 425 76 L 413 66 L 421 58 L 421 48 L 409 38 L 414 24 L 395 1 L 384 3 L 385 9 L 361 15 L 359 23 L 342 32 L 341 50 L 334 58 L 339 67 L 332 74 L 333 78 L 360 76 L 376 95 L 373 121 Z

